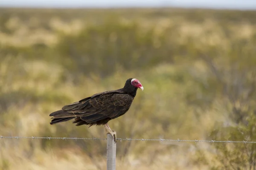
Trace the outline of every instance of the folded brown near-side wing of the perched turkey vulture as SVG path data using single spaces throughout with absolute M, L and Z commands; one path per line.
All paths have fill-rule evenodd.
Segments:
M 62 110 L 74 113 L 87 123 L 93 123 L 121 116 L 128 111 L 133 101 L 129 94 L 104 93 L 66 105 Z

